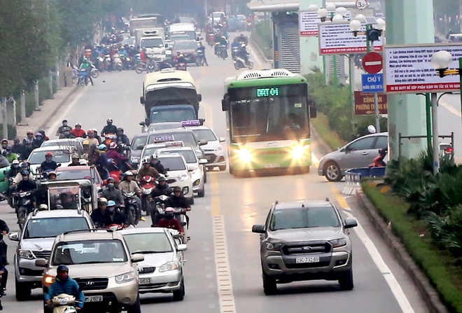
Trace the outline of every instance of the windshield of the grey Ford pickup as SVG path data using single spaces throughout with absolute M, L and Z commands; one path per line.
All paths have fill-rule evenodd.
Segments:
M 332 207 L 300 207 L 274 210 L 271 221 L 269 221 L 270 230 L 339 226 L 339 218 Z

